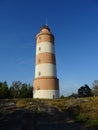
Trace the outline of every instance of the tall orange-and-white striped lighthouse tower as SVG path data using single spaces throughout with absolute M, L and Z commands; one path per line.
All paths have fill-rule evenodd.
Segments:
M 34 98 L 59 98 L 59 80 L 56 72 L 54 35 L 47 25 L 36 35 L 36 65 Z

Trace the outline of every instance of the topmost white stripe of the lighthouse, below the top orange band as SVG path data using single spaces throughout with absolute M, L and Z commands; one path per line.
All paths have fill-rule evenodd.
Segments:
M 44 52 L 55 53 L 53 43 L 41 42 L 41 43 L 37 44 L 36 55 L 39 53 L 44 53 Z

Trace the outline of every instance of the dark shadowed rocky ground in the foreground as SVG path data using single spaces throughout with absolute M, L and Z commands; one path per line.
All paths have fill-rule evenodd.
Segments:
M 83 130 L 67 112 L 45 103 L 40 104 L 41 112 L 8 106 L 9 112 L 0 116 L 0 130 Z

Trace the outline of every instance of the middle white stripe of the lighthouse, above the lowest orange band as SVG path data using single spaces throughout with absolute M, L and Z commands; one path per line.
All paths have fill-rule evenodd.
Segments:
M 57 76 L 54 64 L 38 64 L 35 68 L 35 78 L 41 76 Z

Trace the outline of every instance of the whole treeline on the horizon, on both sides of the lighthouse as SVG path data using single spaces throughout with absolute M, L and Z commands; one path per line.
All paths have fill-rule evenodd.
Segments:
M 77 93 L 72 93 L 69 97 L 89 97 L 98 96 L 98 80 L 93 82 L 90 88 L 87 84 L 81 86 Z M 32 98 L 33 86 L 30 84 L 22 83 L 20 81 L 13 81 L 11 86 L 7 82 L 0 82 L 0 99 L 10 98 Z M 65 98 L 63 95 L 60 98 Z

